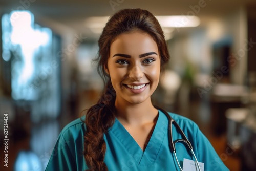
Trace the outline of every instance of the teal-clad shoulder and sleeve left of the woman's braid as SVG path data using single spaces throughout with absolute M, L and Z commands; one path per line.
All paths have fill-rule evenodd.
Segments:
M 84 128 L 84 122 L 78 118 L 62 129 L 46 170 L 73 170 L 75 168 L 77 168 L 75 170 L 84 170 L 82 155 Z

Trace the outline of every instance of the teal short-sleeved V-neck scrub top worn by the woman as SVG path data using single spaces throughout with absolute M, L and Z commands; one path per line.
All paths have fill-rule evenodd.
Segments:
M 199 162 L 204 163 L 204 170 L 229 170 L 221 161 L 208 139 L 199 130 L 195 122 L 183 116 L 169 113 L 179 124 Z M 110 171 L 120 170 L 179 170 L 168 142 L 168 119 L 159 110 L 154 131 L 145 151 L 136 143 L 123 125 L 115 119 L 109 132 L 104 134 L 106 154 L 104 162 Z M 61 131 L 46 170 L 86 170 L 83 158 L 83 136 L 86 127 L 80 118 L 69 123 Z M 173 125 L 173 139 L 181 139 Z M 187 146 L 176 144 L 177 158 L 182 167 L 183 159 L 195 160 Z

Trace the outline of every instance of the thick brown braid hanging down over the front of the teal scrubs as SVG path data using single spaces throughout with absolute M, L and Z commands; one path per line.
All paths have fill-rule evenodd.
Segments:
M 103 134 L 114 123 L 114 102 L 115 91 L 109 81 L 98 103 L 86 115 L 83 155 L 90 171 L 108 170 L 103 162 L 106 151 Z

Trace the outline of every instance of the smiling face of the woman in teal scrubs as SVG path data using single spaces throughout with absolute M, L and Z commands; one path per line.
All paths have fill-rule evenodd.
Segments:
M 151 103 L 160 77 L 156 42 L 141 32 L 119 35 L 111 44 L 106 72 L 116 91 L 116 103 Z

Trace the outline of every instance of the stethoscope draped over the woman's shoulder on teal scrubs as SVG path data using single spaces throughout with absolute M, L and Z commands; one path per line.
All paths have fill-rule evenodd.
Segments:
M 169 130 L 168 140 L 169 140 L 169 148 L 170 148 L 170 152 L 174 154 L 175 159 L 176 159 L 176 161 L 177 161 L 177 163 L 178 163 L 178 166 L 179 166 L 180 170 L 182 171 L 182 168 L 181 168 L 180 163 L 179 163 L 179 161 L 178 161 L 178 158 L 177 158 L 177 156 L 176 156 L 176 147 L 175 147 L 175 145 L 176 145 L 177 142 L 184 142 L 185 144 L 188 145 L 188 147 L 189 147 L 189 149 L 190 149 L 190 152 L 192 153 L 192 155 L 194 156 L 194 158 L 195 158 L 195 160 L 196 160 L 196 163 L 197 163 L 197 166 L 198 166 L 198 168 L 199 168 L 199 171 L 201 171 L 200 166 L 199 166 L 199 163 L 198 163 L 198 160 L 197 160 L 197 157 L 196 157 L 196 155 L 195 155 L 195 153 L 194 153 L 194 151 L 193 151 L 193 147 L 192 147 L 191 143 L 188 141 L 188 139 L 187 139 L 186 135 L 184 134 L 184 132 L 181 130 L 181 128 L 180 128 L 180 126 L 178 125 L 178 123 L 177 123 L 165 110 L 159 108 L 158 106 L 155 106 L 155 108 L 161 110 L 161 111 L 167 116 L 167 118 L 168 118 L 168 127 L 169 127 L 169 129 L 168 129 L 168 130 Z M 177 131 L 181 134 L 182 139 L 177 139 L 177 140 L 173 141 L 173 128 L 172 128 L 172 125 L 173 125 L 173 124 L 176 126 Z

